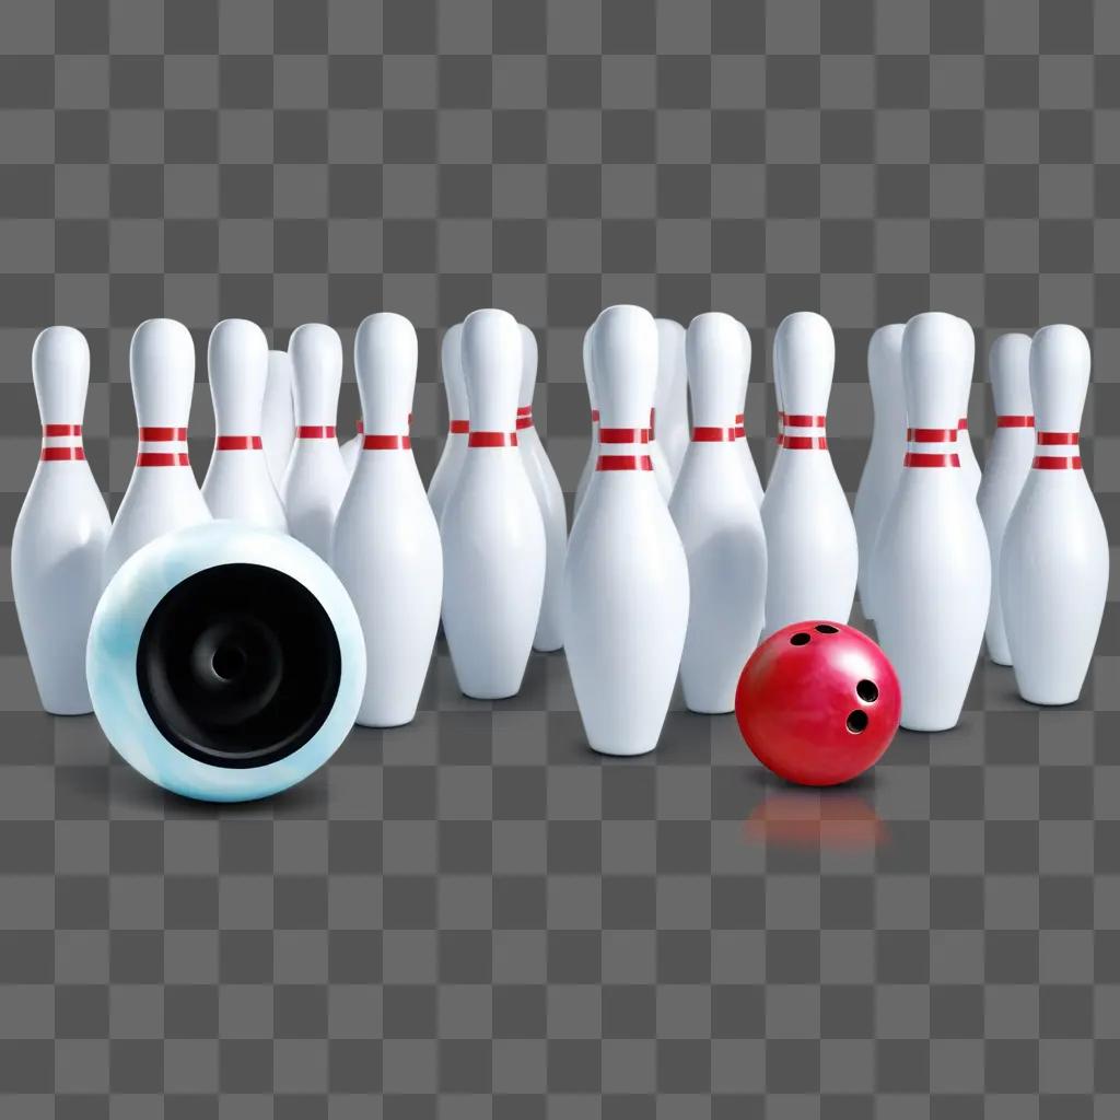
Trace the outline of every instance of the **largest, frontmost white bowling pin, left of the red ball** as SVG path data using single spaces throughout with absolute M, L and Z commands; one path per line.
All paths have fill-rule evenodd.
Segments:
M 689 618 L 688 561 L 647 454 L 653 316 L 607 308 L 591 365 L 603 454 L 568 542 L 564 650 L 592 749 L 640 755 L 661 736 Z

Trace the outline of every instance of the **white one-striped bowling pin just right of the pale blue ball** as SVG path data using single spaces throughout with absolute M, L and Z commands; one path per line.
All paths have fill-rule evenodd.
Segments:
M 409 438 L 417 379 L 412 324 L 390 312 L 364 319 L 354 368 L 363 449 L 338 510 L 332 562 L 365 635 L 357 722 L 396 727 L 416 717 L 444 589 L 439 530 Z

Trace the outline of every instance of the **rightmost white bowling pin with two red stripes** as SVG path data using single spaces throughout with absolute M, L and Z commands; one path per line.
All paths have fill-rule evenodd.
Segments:
M 999 562 L 1015 682 L 1030 703 L 1081 694 L 1108 595 L 1109 542 L 1079 449 L 1090 363 L 1076 327 L 1043 327 L 1030 343 L 1037 446 Z

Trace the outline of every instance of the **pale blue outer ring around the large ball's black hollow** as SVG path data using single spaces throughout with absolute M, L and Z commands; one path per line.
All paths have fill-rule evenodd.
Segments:
M 323 701 L 325 710 L 329 706 L 323 722 L 290 754 L 255 766 L 214 764 L 169 741 L 144 702 L 138 673 L 141 637 L 156 608 L 184 581 L 223 564 L 290 577 L 321 607 L 338 644 L 340 673 L 333 703 L 329 694 Z M 301 782 L 338 749 L 365 688 L 365 642 L 346 589 L 315 552 L 283 533 L 214 521 L 161 536 L 121 566 L 93 616 L 86 676 L 109 741 L 149 781 L 198 801 L 253 801 Z

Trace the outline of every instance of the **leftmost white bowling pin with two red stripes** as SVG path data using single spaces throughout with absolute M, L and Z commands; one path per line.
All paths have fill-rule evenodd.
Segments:
M 82 448 L 90 347 L 47 327 L 31 349 L 43 447 L 11 541 L 16 614 L 44 709 L 92 711 L 85 642 L 102 588 L 109 511 Z

